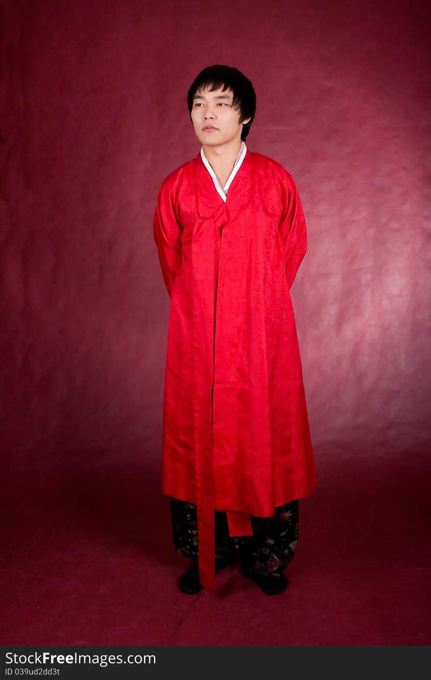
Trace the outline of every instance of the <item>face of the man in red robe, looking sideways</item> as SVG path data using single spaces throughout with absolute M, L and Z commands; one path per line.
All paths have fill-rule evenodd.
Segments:
M 197 139 L 206 146 L 220 146 L 241 139 L 239 109 L 232 107 L 232 90 L 197 90 L 191 109 L 191 120 Z M 246 118 L 243 122 L 249 122 Z

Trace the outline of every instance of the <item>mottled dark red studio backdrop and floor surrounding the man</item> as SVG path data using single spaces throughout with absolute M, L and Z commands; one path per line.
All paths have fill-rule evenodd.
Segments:
M 190 605 L 176 591 L 184 564 L 161 496 L 169 298 L 152 222 L 163 178 L 200 148 L 187 90 L 199 70 L 224 63 L 242 70 L 257 93 L 247 146 L 293 175 L 308 226 L 291 293 L 319 486 L 302 504 L 291 569 L 298 583 L 316 568 L 319 594 L 328 583 L 318 577 L 322 568 L 332 575 L 342 564 L 340 574 L 351 575 L 364 559 L 375 562 L 375 574 L 368 566 L 377 579 L 389 567 L 406 579 L 406 611 L 391 598 L 387 609 L 377 607 L 381 625 L 369 625 L 373 602 L 349 628 L 343 592 L 338 632 L 321 626 L 316 602 L 308 602 L 317 628 L 275 644 L 429 643 L 420 609 L 431 422 L 426 3 L 6 1 L 1 19 L 1 484 L 10 505 L 6 578 L 18 588 L 11 596 L 27 603 L 13 626 L 7 620 L 3 639 L 214 644 L 202 621 L 194 637 L 181 639 L 167 617 L 172 598 Z M 44 541 L 31 539 L 35 527 L 50 545 L 64 541 L 48 566 L 41 566 L 50 558 Z M 86 531 L 95 533 L 84 549 Z M 109 545 L 93 564 L 88 550 L 101 534 Z M 75 575 L 80 565 L 73 602 L 82 615 L 86 589 L 99 596 L 89 559 L 96 580 L 103 560 L 117 585 L 125 577 L 118 544 L 135 550 L 122 558 L 136 570 L 129 607 L 135 589 L 148 590 L 143 573 L 170 588 L 158 625 L 140 621 L 145 634 L 136 637 L 130 609 L 131 627 L 118 630 L 108 613 L 95 622 L 85 610 L 80 632 L 71 617 L 59 633 L 54 610 L 48 624 L 32 600 L 48 588 L 50 570 L 57 573 L 56 559 L 67 555 L 70 567 L 72 550 Z M 32 575 L 25 571 L 31 546 L 39 560 Z M 64 585 L 71 576 L 62 578 Z M 394 588 L 399 578 L 395 571 Z M 373 583 L 379 597 L 381 583 Z M 59 607 L 60 600 L 72 607 L 57 585 Z M 253 587 L 235 581 L 247 602 Z M 229 644 L 274 644 L 270 621 L 264 642 L 254 628 L 236 630 Z

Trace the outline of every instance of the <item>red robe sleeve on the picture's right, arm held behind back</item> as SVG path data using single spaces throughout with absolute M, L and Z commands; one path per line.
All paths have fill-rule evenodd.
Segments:
M 289 290 L 307 250 L 307 233 L 304 210 L 293 177 L 287 171 L 283 174 L 280 188 L 283 206 L 278 231 L 280 232 L 285 272 Z

